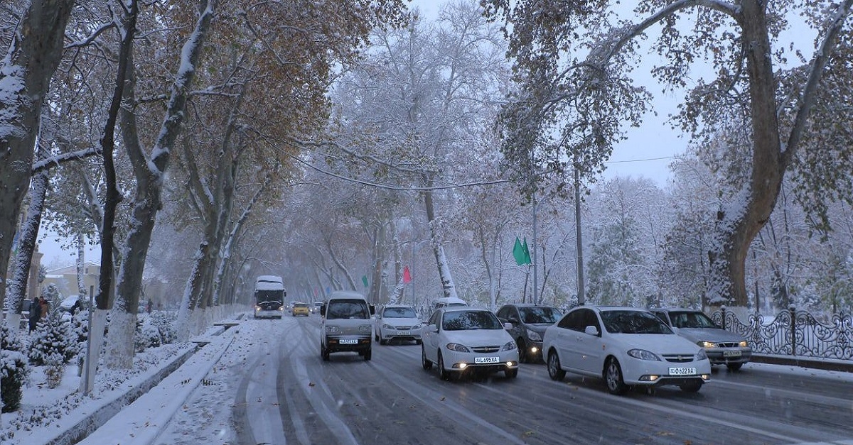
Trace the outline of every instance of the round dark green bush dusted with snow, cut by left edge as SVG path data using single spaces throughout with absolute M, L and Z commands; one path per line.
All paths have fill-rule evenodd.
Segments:
M 0 398 L 3 413 L 12 413 L 20 407 L 23 386 L 29 374 L 24 355 L 24 343 L 16 329 L 9 329 L 6 321 L 0 322 Z

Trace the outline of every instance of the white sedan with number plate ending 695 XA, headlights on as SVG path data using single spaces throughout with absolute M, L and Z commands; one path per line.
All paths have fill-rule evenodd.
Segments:
M 503 371 L 514 379 L 519 374 L 519 349 L 507 328 L 487 309 L 438 309 L 421 332 L 423 368 L 429 370 L 435 364 L 443 380 L 470 371 Z

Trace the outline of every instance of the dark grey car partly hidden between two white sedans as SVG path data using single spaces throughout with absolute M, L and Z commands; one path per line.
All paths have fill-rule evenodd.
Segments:
M 509 335 L 519 345 L 519 361 L 529 363 L 542 361 L 542 336 L 545 329 L 563 314 L 560 309 L 531 303 L 505 304 L 497 309 L 497 318 L 502 323 L 512 325 Z

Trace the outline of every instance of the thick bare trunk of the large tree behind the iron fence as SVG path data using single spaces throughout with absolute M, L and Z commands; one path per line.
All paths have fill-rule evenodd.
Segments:
M 770 60 L 765 3 L 741 2 L 746 69 L 750 79 L 752 171 L 750 188 L 717 213 L 716 246 L 711 260 L 711 300 L 746 307 L 746 255 L 769 220 L 785 171 L 776 118 L 775 78 Z

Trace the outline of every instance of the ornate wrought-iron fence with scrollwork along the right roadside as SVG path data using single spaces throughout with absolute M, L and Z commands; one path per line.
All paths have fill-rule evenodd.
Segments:
M 757 354 L 853 360 L 853 316 L 833 315 L 824 324 L 804 310 L 788 309 L 772 321 L 752 314 L 746 323 L 723 306 L 711 314 L 723 329 L 740 333 Z

